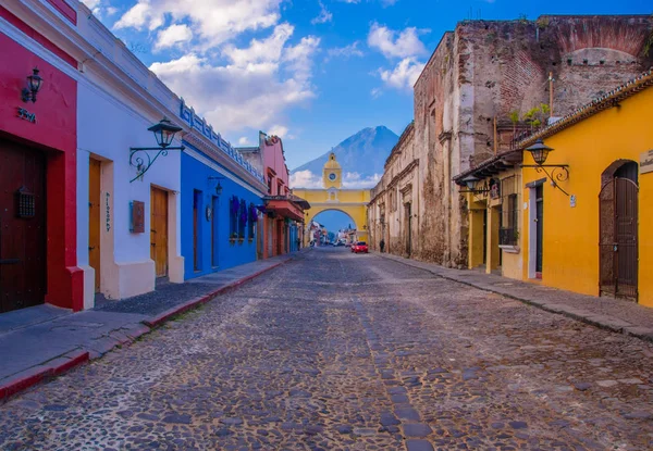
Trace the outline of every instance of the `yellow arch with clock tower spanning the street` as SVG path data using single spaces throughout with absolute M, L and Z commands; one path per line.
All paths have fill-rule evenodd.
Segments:
M 341 211 L 356 224 L 359 240 L 367 241 L 367 204 L 370 201 L 369 189 L 343 189 L 343 168 L 335 159 L 335 153 L 329 154 L 329 160 L 322 168 L 322 189 L 294 188 L 293 193 L 310 203 L 305 211 L 306 222 L 310 222 L 320 213 L 328 210 Z M 310 234 L 305 234 L 305 245 L 310 240 Z

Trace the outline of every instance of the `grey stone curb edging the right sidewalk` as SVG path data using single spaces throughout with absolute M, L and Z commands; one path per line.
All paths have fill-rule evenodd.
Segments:
M 627 323 L 620 318 L 613 318 L 613 317 L 604 316 L 604 315 L 601 315 L 599 313 L 593 313 L 593 312 L 586 312 L 586 311 L 578 310 L 578 309 L 575 309 L 572 306 L 568 306 L 565 304 L 547 303 L 547 302 L 543 302 L 543 301 L 537 301 L 533 299 L 520 298 L 519 296 L 507 293 L 507 292 L 504 292 L 501 290 L 495 290 L 490 287 L 477 285 L 477 284 L 468 281 L 468 280 L 460 280 L 460 279 L 452 277 L 452 276 L 446 276 L 444 274 L 438 273 L 434 270 L 429 270 L 429 268 L 420 267 L 416 264 L 411 264 L 411 262 L 396 260 L 396 259 L 393 259 L 392 256 L 385 256 L 383 254 L 380 254 L 379 252 L 374 252 L 374 253 L 379 254 L 379 256 L 382 256 L 383 259 L 392 260 L 397 263 L 402 263 L 406 266 L 426 271 L 428 273 L 431 273 L 434 276 L 441 277 L 446 280 L 467 285 L 468 287 L 473 287 L 479 290 L 483 290 L 483 291 L 492 292 L 494 295 L 503 296 L 505 298 L 514 299 L 514 300 L 525 303 L 527 305 L 534 306 L 534 308 L 543 310 L 545 312 L 563 315 L 568 318 L 576 320 L 576 321 L 584 323 L 584 324 L 589 324 L 590 326 L 597 327 L 600 329 L 609 330 L 613 333 L 639 338 L 640 340 L 653 342 L 653 329 L 648 328 L 648 327 L 636 326 L 636 325 Z

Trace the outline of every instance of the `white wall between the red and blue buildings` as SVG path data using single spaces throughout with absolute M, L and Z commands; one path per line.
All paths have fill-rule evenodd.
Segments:
M 169 224 L 169 266 L 173 281 L 183 279 L 175 273 L 181 259 L 181 226 L 178 202 L 181 190 L 181 154 L 172 150 L 159 156 L 143 180 L 130 183 L 136 168 L 130 165 L 130 147 L 157 147 L 155 136 L 147 128 L 163 117 L 147 115 L 150 105 L 138 104 L 120 93 L 109 95 L 94 86 L 93 74 L 78 84 L 77 97 L 77 259 L 81 267 L 88 270 L 88 158 L 102 160 L 101 193 L 101 242 L 102 267 L 101 291 L 110 298 L 125 298 L 153 289 L 153 262 L 150 259 L 150 187 L 156 185 L 169 191 L 172 209 L 169 211 L 173 224 Z M 107 87 L 107 90 L 110 88 Z M 174 118 L 173 118 L 174 121 Z M 173 146 L 178 146 L 174 142 Z M 151 156 L 156 151 L 150 151 Z M 111 164 L 112 163 L 112 164 Z M 112 171 L 104 168 L 112 166 Z M 104 204 L 109 193 L 109 225 Z M 145 202 L 145 233 L 130 231 L 130 202 Z M 107 256 L 110 256 L 108 264 Z M 180 270 L 181 271 L 181 270 Z M 89 277 L 85 277 L 90 281 Z M 85 289 L 85 292 L 87 290 Z M 89 296 L 89 295 L 87 295 Z

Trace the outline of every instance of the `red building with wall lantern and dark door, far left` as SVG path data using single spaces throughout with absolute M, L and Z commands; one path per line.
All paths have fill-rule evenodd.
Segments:
M 56 21 L 75 24 L 66 3 L 50 3 Z M 16 10 L 0 7 L 0 312 L 44 302 L 82 310 L 77 61 L 35 29 L 46 15 Z

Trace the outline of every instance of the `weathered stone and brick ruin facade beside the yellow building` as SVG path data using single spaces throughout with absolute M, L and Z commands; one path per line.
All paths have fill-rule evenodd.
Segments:
M 551 115 L 563 116 L 650 67 L 653 55 L 642 48 L 652 24 L 649 16 L 541 16 L 466 21 L 445 33 L 415 84 L 415 123 L 372 191 L 372 245 L 383 229 L 392 253 L 467 267 L 467 205 L 452 177 L 530 129 L 510 113 L 521 118 L 552 99 Z

